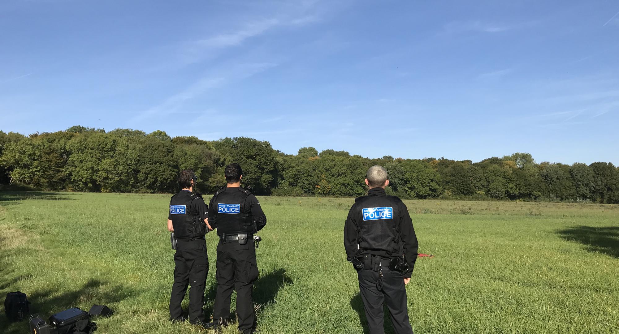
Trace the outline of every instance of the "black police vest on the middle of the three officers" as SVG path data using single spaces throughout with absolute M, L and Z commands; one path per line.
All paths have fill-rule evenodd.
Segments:
M 246 207 L 248 189 L 223 188 L 215 192 L 212 208 L 217 217 L 217 234 L 254 233 L 254 218 L 251 208 Z

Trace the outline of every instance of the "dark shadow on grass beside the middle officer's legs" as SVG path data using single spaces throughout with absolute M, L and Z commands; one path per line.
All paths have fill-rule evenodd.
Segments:
M 261 312 L 261 310 L 275 304 L 275 300 L 277 298 L 277 294 L 280 289 L 284 288 L 284 286 L 292 285 L 293 280 L 288 275 L 286 275 L 286 270 L 284 268 L 274 269 L 266 275 L 261 275 L 258 280 L 254 283 L 254 289 L 252 293 L 252 297 L 254 300 L 254 305 L 256 307 L 256 312 Z M 217 295 L 217 283 L 212 283 L 209 286 L 209 291 L 206 293 L 207 301 L 214 301 L 215 296 Z M 212 316 L 213 308 L 208 307 L 204 310 L 206 319 L 210 319 Z M 230 317 L 232 317 L 232 321 L 235 321 L 236 312 L 232 310 Z

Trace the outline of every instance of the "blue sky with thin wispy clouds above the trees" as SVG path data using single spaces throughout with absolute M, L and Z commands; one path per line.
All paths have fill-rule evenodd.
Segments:
M 0 129 L 619 164 L 617 1 L 0 3 Z

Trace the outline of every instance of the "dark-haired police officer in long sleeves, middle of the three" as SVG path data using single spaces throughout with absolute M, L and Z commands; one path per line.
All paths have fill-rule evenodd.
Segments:
M 209 223 L 217 228 L 217 295 L 213 322 L 206 328 L 219 330 L 230 320 L 230 296 L 236 289 L 238 330 L 254 333 L 256 312 L 251 299 L 254 281 L 258 278 L 254 233 L 267 223 L 256 196 L 241 188 L 243 171 L 238 163 L 225 168 L 227 187 L 210 199 Z

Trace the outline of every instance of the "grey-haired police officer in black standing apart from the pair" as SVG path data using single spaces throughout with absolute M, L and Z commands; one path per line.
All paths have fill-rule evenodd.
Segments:
M 397 334 L 412 334 L 404 285 L 417 260 L 417 236 L 406 205 L 387 196 L 387 171 L 372 166 L 368 195 L 355 199 L 344 225 L 344 247 L 357 268 L 370 334 L 383 334 L 383 303 Z

